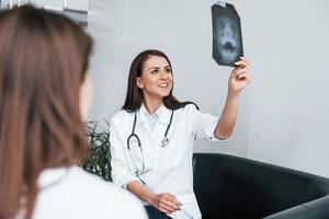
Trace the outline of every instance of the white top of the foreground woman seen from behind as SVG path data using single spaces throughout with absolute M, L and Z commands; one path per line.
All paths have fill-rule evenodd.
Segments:
M 81 168 L 45 170 L 33 219 L 147 219 L 134 195 Z

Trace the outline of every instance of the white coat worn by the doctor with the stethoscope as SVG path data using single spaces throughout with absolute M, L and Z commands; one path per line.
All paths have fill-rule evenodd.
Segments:
M 135 113 L 120 111 L 111 119 L 111 166 L 113 182 L 125 187 L 129 182 L 144 182 L 148 189 L 159 193 L 170 193 L 183 204 L 182 210 L 171 215 L 173 219 L 201 218 L 201 212 L 193 192 L 192 155 L 194 139 L 203 138 L 218 140 L 214 130 L 218 117 L 204 114 L 193 104 L 175 110 L 168 132 L 169 143 L 160 147 L 170 122 L 171 110 L 161 106 L 156 114 L 158 120 L 151 131 L 148 125 L 148 112 L 143 105 L 137 111 L 135 134 L 138 136 L 143 153 L 136 138 L 127 139 L 133 130 Z M 145 174 L 137 177 L 136 170 L 143 172 L 143 155 Z

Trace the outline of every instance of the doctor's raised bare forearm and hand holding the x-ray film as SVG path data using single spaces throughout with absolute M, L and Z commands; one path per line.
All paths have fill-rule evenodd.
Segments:
M 249 62 L 241 57 L 235 64 L 237 67 L 231 71 L 229 77 L 226 103 L 214 130 L 214 136 L 217 139 L 227 139 L 230 137 L 237 120 L 239 94 L 250 83 L 250 76 L 248 73 Z

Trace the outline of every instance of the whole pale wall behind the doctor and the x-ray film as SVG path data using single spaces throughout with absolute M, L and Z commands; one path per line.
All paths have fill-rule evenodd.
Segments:
M 90 72 L 95 87 L 90 119 L 118 111 L 131 61 L 143 49 L 171 58 L 179 100 L 218 114 L 229 68 L 211 58 L 214 1 L 92 0 L 89 31 L 95 39 Z M 231 153 L 329 176 L 329 1 L 235 0 L 242 19 L 252 83 L 240 97 L 235 136 L 197 142 L 195 151 Z

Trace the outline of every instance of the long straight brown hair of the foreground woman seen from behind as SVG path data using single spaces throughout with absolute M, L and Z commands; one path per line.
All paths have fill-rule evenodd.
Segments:
M 30 5 L 0 12 L 0 219 L 31 218 L 37 177 L 86 154 L 79 92 L 92 39 Z

